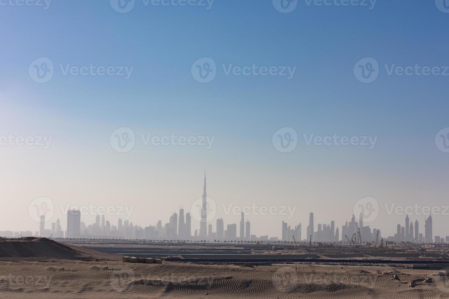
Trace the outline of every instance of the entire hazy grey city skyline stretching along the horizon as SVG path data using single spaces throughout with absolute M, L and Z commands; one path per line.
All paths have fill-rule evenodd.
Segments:
M 210 199 L 214 201 L 213 199 Z M 371 200 L 371 199 L 370 199 Z M 44 236 L 50 237 L 53 236 L 57 238 L 83 238 L 84 237 L 97 237 L 97 238 L 107 238 L 117 237 L 117 238 L 146 238 L 146 239 L 174 239 L 174 240 L 189 240 L 189 239 L 204 239 L 204 240 L 246 240 L 246 241 L 261 241 L 261 240 L 269 240 L 269 241 L 312 241 L 312 242 L 346 242 L 351 236 L 358 236 L 358 238 L 362 239 L 360 242 L 371 242 L 374 243 L 375 239 L 384 238 L 386 241 L 392 242 L 419 242 L 419 243 L 439 243 L 440 235 L 433 234 L 433 224 L 432 217 L 425 218 L 424 221 L 424 232 L 422 233 L 419 230 L 419 221 L 415 219 L 415 221 L 411 221 L 408 214 L 405 216 L 405 224 L 397 224 L 396 233 L 390 236 L 383 236 L 380 229 L 371 228 L 370 225 L 364 225 L 365 220 L 369 219 L 369 216 L 366 217 L 363 215 L 364 209 L 362 208 L 358 221 L 356 221 L 355 215 L 352 214 L 351 221 L 346 221 L 344 225 L 341 226 L 341 236 L 339 235 L 339 227 L 335 227 L 335 220 L 328 220 L 326 223 L 318 223 L 315 227 L 314 224 L 314 213 L 309 212 L 308 217 L 308 225 L 306 228 L 305 238 L 302 232 L 302 222 L 299 224 L 288 225 L 287 222 L 282 221 L 282 232 L 279 236 L 268 234 L 257 236 L 256 234 L 251 234 L 251 222 L 247 219 L 245 222 L 244 212 L 240 213 L 240 222 L 236 224 L 226 224 L 225 220 L 220 217 L 216 217 L 216 211 L 212 211 L 211 206 L 207 204 L 207 188 L 206 188 L 206 172 L 204 172 L 204 185 L 203 185 L 203 194 L 201 197 L 201 211 L 200 211 L 200 219 L 198 221 L 199 227 L 194 228 L 194 232 L 192 233 L 192 218 L 190 212 L 185 213 L 184 208 L 179 208 L 179 217 L 177 212 L 172 212 L 172 215 L 169 217 L 169 222 L 165 225 L 162 225 L 162 220 L 158 220 L 157 224 L 133 224 L 129 219 L 124 220 L 119 218 L 117 221 L 118 225 L 111 225 L 111 221 L 106 221 L 105 214 L 95 215 L 95 222 L 93 225 L 85 225 L 84 221 L 81 221 L 81 212 L 76 209 L 70 209 L 67 211 L 67 226 L 65 234 L 62 231 L 62 226 L 60 224 L 60 219 L 58 218 L 56 222 L 51 223 L 51 229 L 48 228 L 49 222 L 48 219 L 45 219 L 45 215 L 40 215 L 39 219 L 39 230 L 35 231 L 32 234 L 32 231 L 20 231 L 20 232 L 9 232 L 6 237 L 17 237 L 18 233 L 26 234 L 26 236 L 34 235 L 34 236 Z M 45 203 L 45 207 L 48 203 Z M 210 203 L 209 203 L 210 204 Z M 371 202 L 368 202 L 367 205 L 371 205 Z M 42 203 L 41 203 L 42 205 Z M 31 207 L 31 205 L 30 205 Z M 363 207 L 363 205 L 362 205 Z M 195 204 L 192 205 L 192 208 L 195 207 Z M 49 209 L 48 209 L 49 210 Z M 208 214 L 213 215 L 212 218 L 207 219 Z M 254 215 L 252 215 L 254 216 Z M 214 221 L 216 221 L 214 223 Z M 329 224 L 330 223 L 330 224 Z M 214 226 L 215 224 L 215 226 Z M 149 226 L 146 226 L 149 225 Z M 238 226 L 237 226 L 238 225 Z M 130 228 L 128 231 L 128 227 Z M 224 229 L 226 227 L 226 230 Z M 237 234 L 237 227 L 239 227 L 239 234 Z M 317 230 L 315 230 L 317 228 Z M 214 231 L 215 229 L 215 231 Z M 202 230 L 205 233 L 202 233 Z M 0 233 L 4 233 L 5 231 L 0 231 Z M 11 234 L 12 233 L 12 234 Z M 448 231 L 449 233 L 449 231 Z M 445 234 L 441 234 L 444 237 L 448 237 Z

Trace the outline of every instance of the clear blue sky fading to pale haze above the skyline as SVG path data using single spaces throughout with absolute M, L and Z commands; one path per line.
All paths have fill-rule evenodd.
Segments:
M 449 205 L 442 0 L 285 1 L 296 5 L 288 13 L 280 0 L 135 0 L 126 13 L 114 1 L 0 1 L 0 136 L 37 143 L 0 145 L 0 230 L 38 230 L 29 206 L 41 197 L 53 203 L 48 223 L 60 218 L 63 229 L 67 204 L 126 205 L 134 224 L 165 223 L 202 196 L 205 169 L 225 225 L 240 217 L 223 204 L 295 208 L 246 216 L 252 234 L 269 237 L 281 236 L 282 221 L 302 223 L 304 236 L 309 212 L 341 231 L 366 197 L 379 204 L 369 225 L 384 237 L 405 219 L 385 204 Z M 120 128 L 135 134 L 127 152 L 114 143 L 129 136 Z M 145 145 L 141 134 L 195 145 Z M 334 134 L 377 138 L 372 148 L 308 142 Z M 51 138 L 48 148 L 35 136 Z M 296 147 L 284 149 L 291 136 Z M 434 235 L 449 235 L 448 214 L 432 215 Z M 424 215 L 409 217 L 423 232 Z

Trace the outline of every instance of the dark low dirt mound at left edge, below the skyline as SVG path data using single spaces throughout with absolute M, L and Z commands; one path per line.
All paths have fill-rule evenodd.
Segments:
M 53 258 L 62 260 L 118 260 L 105 254 L 73 245 L 64 245 L 48 238 L 0 239 L 0 258 Z

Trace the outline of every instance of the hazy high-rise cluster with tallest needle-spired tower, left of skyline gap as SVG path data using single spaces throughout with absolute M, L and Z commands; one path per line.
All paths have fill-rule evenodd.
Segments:
M 124 238 L 124 239 L 148 239 L 148 240 L 192 240 L 201 239 L 208 241 L 258 241 L 269 240 L 268 236 L 256 237 L 251 234 L 251 223 L 245 221 L 244 213 L 241 214 L 239 226 L 237 224 L 228 224 L 225 226 L 223 218 L 216 220 L 216 231 L 213 231 L 212 223 L 207 220 L 207 192 L 206 192 L 206 173 L 204 174 L 204 188 L 202 195 L 202 209 L 200 228 L 194 230 L 192 235 L 192 217 L 189 212 L 185 213 L 180 208 L 179 215 L 174 212 L 169 221 L 163 225 L 159 220 L 156 225 L 142 227 L 132 222 L 119 218 L 117 225 L 111 225 L 110 221 L 105 219 L 105 215 L 97 215 L 95 223 L 87 225 L 81 221 L 81 212 L 79 210 L 67 211 L 67 230 L 61 230 L 59 219 L 52 223 L 52 229 L 45 229 L 45 216 L 40 218 L 40 230 L 35 232 L 35 236 L 53 238 Z M 31 235 L 31 232 L 29 232 Z M 13 236 L 11 236 L 13 237 Z M 277 240 L 277 238 L 271 238 Z

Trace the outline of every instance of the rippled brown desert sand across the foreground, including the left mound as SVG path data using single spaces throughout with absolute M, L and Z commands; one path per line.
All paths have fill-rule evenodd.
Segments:
M 0 298 L 449 298 L 448 278 L 436 275 L 436 270 L 312 264 L 131 264 L 117 255 L 72 245 L 59 247 L 48 241 L 30 239 L 16 245 L 0 241 Z M 47 252 L 33 251 L 45 246 Z M 56 247 L 66 256 L 38 256 L 48 256 Z M 28 255 L 25 249 L 34 256 L 23 257 Z M 22 252 L 21 257 L 14 256 L 17 251 Z

